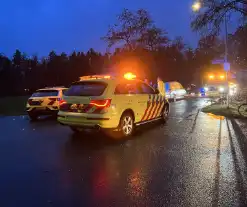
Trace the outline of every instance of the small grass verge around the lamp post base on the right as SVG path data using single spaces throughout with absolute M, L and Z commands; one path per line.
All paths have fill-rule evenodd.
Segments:
M 218 116 L 224 116 L 228 118 L 243 118 L 239 113 L 236 107 L 221 104 L 212 104 L 202 108 L 201 110 L 204 113 L 211 113 Z

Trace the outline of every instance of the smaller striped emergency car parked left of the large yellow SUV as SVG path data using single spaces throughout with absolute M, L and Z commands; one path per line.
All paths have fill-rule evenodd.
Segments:
M 32 94 L 26 104 L 26 111 L 31 120 L 40 115 L 57 115 L 65 87 L 47 87 Z

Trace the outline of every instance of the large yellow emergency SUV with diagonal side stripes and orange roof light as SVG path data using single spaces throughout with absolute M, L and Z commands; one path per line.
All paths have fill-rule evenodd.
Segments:
M 95 75 L 81 77 L 71 85 L 60 105 L 58 121 L 74 132 L 115 129 L 127 137 L 138 125 L 165 122 L 168 113 L 165 96 L 134 74 Z

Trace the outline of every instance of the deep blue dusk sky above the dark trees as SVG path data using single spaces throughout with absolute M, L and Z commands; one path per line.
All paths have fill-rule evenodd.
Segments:
M 0 52 L 15 49 L 28 55 L 47 55 L 51 50 L 70 53 L 89 48 L 104 52 L 100 40 L 123 8 L 146 9 L 170 38 L 183 36 L 196 46 L 190 29 L 192 0 L 8 0 L 0 8 Z

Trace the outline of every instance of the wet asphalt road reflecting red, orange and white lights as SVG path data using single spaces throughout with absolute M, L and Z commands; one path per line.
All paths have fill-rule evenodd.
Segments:
M 247 206 L 246 137 L 204 105 L 172 103 L 125 142 L 1 117 L 0 206 Z

